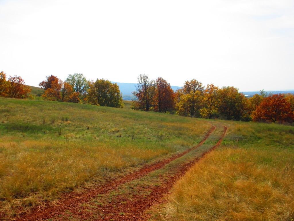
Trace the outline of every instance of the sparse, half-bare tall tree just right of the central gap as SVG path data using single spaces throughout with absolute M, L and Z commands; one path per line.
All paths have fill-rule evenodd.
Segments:
M 139 75 L 136 90 L 133 91 L 133 95 L 137 97 L 137 100 L 133 103 L 133 108 L 149 111 L 153 106 L 155 93 L 155 81 L 145 74 Z

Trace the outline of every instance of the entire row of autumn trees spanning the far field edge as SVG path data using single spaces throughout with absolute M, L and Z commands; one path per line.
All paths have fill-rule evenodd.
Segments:
M 46 76 L 39 86 L 44 89 L 44 100 L 88 103 L 92 105 L 123 107 L 122 94 L 116 83 L 97 79 L 89 81 L 83 74 L 69 75 L 62 81 L 54 75 Z M 20 76 L 6 79 L 0 72 L 0 96 L 10 98 L 32 98 L 31 88 Z M 156 80 L 148 75 L 139 75 L 133 91 L 132 109 L 174 113 L 181 116 L 255 122 L 294 121 L 293 94 L 267 94 L 263 90 L 246 98 L 235 87 L 219 88 L 213 84 L 206 87 L 196 79 L 185 81 L 173 91 L 162 77 Z

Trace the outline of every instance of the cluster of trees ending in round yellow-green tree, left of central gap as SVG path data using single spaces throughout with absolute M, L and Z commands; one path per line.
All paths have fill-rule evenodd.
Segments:
M 51 75 L 46 76 L 39 86 L 45 90 L 42 96 L 46 100 L 123 107 L 119 86 L 110 80 L 89 81 L 83 74 L 76 73 L 69 75 L 63 82 Z

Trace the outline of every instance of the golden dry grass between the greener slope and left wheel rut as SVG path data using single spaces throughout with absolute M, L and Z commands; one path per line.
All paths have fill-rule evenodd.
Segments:
M 133 144 L 111 147 L 72 141 L 1 142 L 0 148 L 0 196 L 9 202 L 6 207 L 12 202 L 13 206 L 31 206 L 40 197 L 52 200 L 62 190 L 109 178 L 118 169 L 168 153 L 165 149 L 138 149 Z

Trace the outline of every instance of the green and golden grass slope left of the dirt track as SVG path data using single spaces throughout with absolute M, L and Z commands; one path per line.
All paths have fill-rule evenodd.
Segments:
M 128 108 L 0 98 L 1 210 L 113 179 L 193 146 L 210 127 Z

